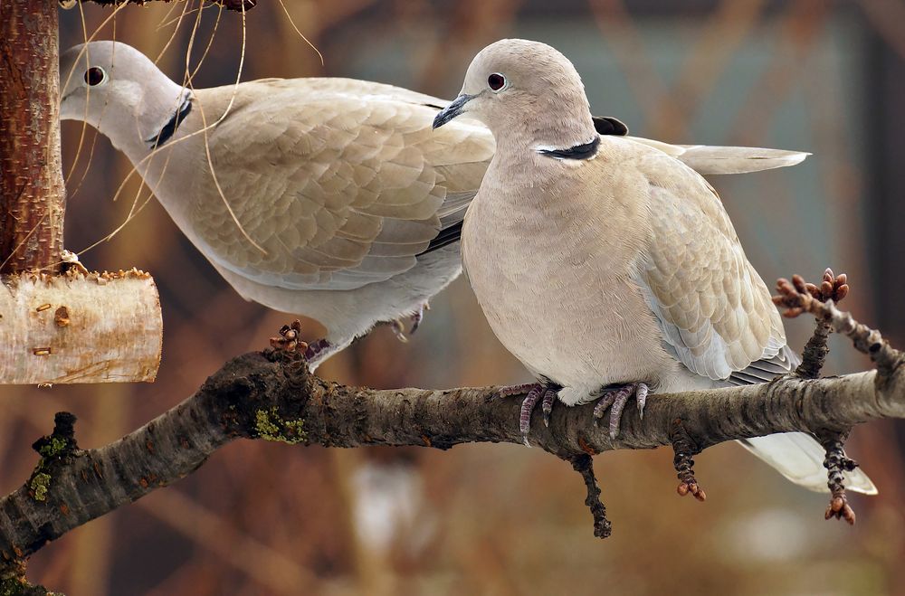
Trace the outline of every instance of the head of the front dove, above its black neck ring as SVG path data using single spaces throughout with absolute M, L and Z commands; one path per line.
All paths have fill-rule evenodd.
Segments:
M 466 113 L 490 128 L 498 144 L 520 137 L 538 146 L 573 147 L 596 134 L 581 77 L 546 43 L 504 39 L 481 50 L 459 97 L 437 114 L 433 128 Z

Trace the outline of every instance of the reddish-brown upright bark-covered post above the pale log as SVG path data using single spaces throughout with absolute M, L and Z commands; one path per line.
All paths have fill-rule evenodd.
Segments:
M 0 2 L 0 271 L 62 263 L 59 10 Z

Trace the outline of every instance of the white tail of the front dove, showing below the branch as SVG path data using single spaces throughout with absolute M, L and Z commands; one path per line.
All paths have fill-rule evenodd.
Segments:
M 738 442 L 795 484 L 817 492 L 829 492 L 824 448 L 804 432 L 783 432 Z M 877 494 L 877 487 L 861 468 L 845 474 L 845 487 L 865 495 Z

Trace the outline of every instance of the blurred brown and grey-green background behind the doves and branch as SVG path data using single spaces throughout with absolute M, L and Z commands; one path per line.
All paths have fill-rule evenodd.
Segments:
M 803 165 L 714 177 L 748 258 L 772 285 L 826 266 L 847 307 L 905 346 L 905 2 L 902 0 L 284 0 L 245 19 L 243 80 L 346 76 L 452 98 L 472 56 L 502 37 L 550 43 L 581 72 L 595 113 L 669 142 L 811 151 Z M 116 38 L 181 80 L 197 3 L 62 13 L 61 48 Z M 83 14 L 80 14 L 80 10 Z M 185 14 L 184 14 L 185 12 Z M 180 16 L 182 19 L 180 20 Z M 324 65 L 301 33 L 323 54 Z M 219 19 L 219 20 L 218 20 Z M 197 86 L 235 80 L 241 14 L 202 11 Z M 66 241 L 81 251 L 122 222 L 131 166 L 88 129 L 63 126 Z M 89 160 L 90 156 L 90 160 Z M 134 176 L 133 176 L 134 178 Z M 53 412 L 79 417 L 84 448 L 185 399 L 224 361 L 260 349 L 291 317 L 244 302 L 151 200 L 90 269 L 149 270 L 164 312 L 157 383 L 0 389 L 0 492 L 37 460 Z M 810 335 L 787 323 L 791 345 Z M 317 336 L 318 326 L 307 326 Z M 834 338 L 828 373 L 868 363 Z M 408 344 L 386 327 L 319 369 L 342 383 L 519 383 L 464 279 L 435 298 Z M 515 421 L 513 421 L 515 424 Z M 107 594 L 903 594 L 905 425 L 854 430 L 849 451 L 878 487 L 858 524 L 825 522 L 823 495 L 733 444 L 697 458 L 705 504 L 675 494 L 672 452 L 595 464 L 614 534 L 595 539 L 580 478 L 539 449 L 300 449 L 238 441 L 194 475 L 82 526 L 33 557 L 29 576 L 70 596 Z

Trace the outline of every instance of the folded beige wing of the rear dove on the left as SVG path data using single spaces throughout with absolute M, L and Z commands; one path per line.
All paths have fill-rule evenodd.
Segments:
M 193 189 L 207 197 L 193 227 L 218 266 L 263 284 L 355 289 L 411 269 L 462 221 L 493 152 L 467 118 L 432 130 L 445 102 L 387 85 L 262 80 L 241 95 L 210 147 L 226 201 L 265 252 L 213 179 Z

